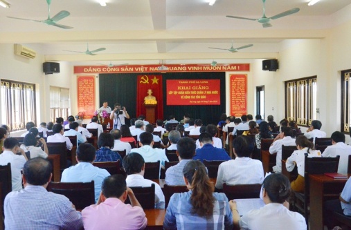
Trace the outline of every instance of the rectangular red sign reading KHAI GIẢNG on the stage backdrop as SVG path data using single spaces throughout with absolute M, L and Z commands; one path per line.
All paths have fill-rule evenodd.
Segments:
M 219 105 L 220 80 L 167 80 L 168 106 Z

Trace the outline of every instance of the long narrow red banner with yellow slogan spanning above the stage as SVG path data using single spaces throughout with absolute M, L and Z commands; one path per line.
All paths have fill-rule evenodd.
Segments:
M 74 73 L 175 73 L 175 72 L 237 72 L 250 71 L 250 64 L 228 64 L 227 66 L 210 66 L 206 64 L 170 64 L 168 70 L 159 70 L 160 65 L 127 66 L 74 66 Z

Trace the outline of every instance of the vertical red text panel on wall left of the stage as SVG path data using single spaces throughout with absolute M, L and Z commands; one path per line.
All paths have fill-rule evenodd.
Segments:
M 85 118 L 93 117 L 95 108 L 95 76 L 77 77 L 78 112 L 85 113 Z

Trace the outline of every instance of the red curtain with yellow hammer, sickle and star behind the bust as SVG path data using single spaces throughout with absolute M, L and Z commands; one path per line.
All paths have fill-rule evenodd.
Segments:
M 156 97 L 157 101 L 155 119 L 163 119 L 162 75 L 138 75 L 136 84 L 136 117 L 146 113 L 143 104 L 149 88 L 151 88 L 152 95 Z

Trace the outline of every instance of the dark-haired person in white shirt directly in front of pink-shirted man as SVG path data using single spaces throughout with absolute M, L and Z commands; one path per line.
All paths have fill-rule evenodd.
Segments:
M 123 165 L 125 166 L 125 172 L 127 173 L 127 186 L 151 186 L 155 185 L 155 208 L 164 209 L 165 208 L 165 195 L 163 195 L 162 189 L 159 184 L 153 182 L 152 180 L 147 180 L 144 178 L 145 173 L 145 161 L 144 158 L 139 153 L 130 153 L 125 155 L 123 160 Z

